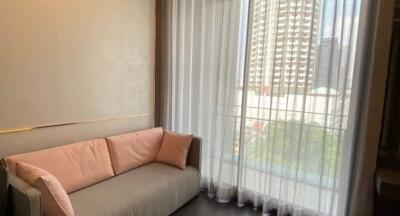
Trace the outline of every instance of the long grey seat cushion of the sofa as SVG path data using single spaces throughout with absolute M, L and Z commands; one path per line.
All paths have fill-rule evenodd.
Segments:
M 199 172 L 151 163 L 69 195 L 76 216 L 163 216 L 199 192 Z

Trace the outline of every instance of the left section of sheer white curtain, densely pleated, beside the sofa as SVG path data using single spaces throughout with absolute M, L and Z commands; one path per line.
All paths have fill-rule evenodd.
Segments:
M 203 139 L 202 187 L 220 201 L 238 179 L 247 2 L 168 1 L 163 127 Z

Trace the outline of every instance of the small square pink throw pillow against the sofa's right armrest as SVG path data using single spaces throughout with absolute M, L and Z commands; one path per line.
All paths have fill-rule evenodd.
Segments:
M 156 161 L 185 169 L 186 157 L 193 135 L 177 134 L 165 131 Z

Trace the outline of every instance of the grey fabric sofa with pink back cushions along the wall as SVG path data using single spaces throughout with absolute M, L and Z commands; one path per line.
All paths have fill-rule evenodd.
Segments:
M 201 139 L 193 137 L 186 167 L 180 169 L 155 161 L 162 134 L 161 128 L 153 128 L 4 158 L 7 214 L 43 215 L 40 191 L 13 170 L 19 161 L 54 175 L 65 188 L 76 216 L 173 213 L 199 193 Z M 126 145 L 132 148 L 121 150 Z

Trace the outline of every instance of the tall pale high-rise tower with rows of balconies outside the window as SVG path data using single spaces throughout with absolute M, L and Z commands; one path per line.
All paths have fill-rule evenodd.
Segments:
M 249 87 L 311 87 L 320 0 L 254 0 Z

